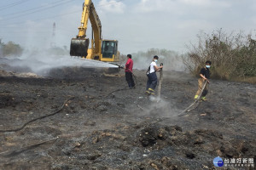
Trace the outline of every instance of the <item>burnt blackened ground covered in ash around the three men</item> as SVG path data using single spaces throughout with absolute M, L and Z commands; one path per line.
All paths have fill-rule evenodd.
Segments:
M 255 161 L 255 84 L 212 80 L 208 101 L 178 116 L 197 90 L 197 78 L 183 72 L 164 72 L 158 103 L 144 94 L 145 71 L 135 71 L 134 89 L 126 89 L 123 71 L 51 73 L 0 77 L 0 130 L 16 130 L 0 133 L 0 169 L 215 169 L 217 156 Z

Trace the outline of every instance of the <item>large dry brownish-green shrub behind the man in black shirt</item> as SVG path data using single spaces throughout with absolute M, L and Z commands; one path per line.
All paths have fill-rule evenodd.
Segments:
M 226 34 L 222 29 L 211 35 L 201 32 L 198 42 L 190 44 L 189 53 L 183 55 L 186 69 L 194 75 L 212 61 L 212 77 L 232 80 L 234 77 L 256 76 L 256 41 L 242 32 Z

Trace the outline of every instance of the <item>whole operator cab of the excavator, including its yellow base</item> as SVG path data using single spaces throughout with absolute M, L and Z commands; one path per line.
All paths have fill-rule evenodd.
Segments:
M 119 59 L 118 56 L 118 41 L 102 40 L 102 61 L 113 62 Z

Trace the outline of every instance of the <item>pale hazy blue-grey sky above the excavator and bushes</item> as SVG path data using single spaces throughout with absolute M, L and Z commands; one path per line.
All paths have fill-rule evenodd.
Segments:
M 0 38 L 23 47 L 70 46 L 84 0 L 0 0 Z M 200 31 L 255 35 L 255 0 L 94 0 L 103 39 L 119 41 L 121 54 L 166 48 L 183 53 Z M 53 39 L 53 23 L 55 37 Z M 87 31 L 90 38 L 90 30 Z M 255 36 L 254 36 L 255 37 Z

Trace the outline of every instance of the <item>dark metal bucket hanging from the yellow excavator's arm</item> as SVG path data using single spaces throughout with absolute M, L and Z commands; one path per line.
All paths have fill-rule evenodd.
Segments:
M 71 44 L 70 44 L 70 55 L 86 57 L 88 47 L 89 47 L 89 39 L 88 38 L 84 38 L 84 39 L 72 38 Z

